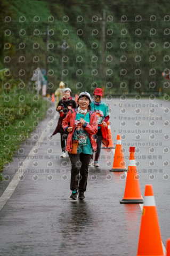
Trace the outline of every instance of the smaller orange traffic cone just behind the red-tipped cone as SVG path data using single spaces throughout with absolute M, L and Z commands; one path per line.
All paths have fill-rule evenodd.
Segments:
M 124 161 L 123 149 L 121 144 L 120 135 L 117 135 L 117 144 L 115 149 L 114 164 L 110 172 L 123 172 L 127 171 Z

